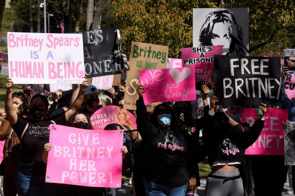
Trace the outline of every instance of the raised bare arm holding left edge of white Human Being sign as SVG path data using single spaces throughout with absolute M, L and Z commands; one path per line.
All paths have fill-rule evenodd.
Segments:
M 17 123 L 17 113 L 13 110 L 13 102 L 12 102 L 12 90 L 13 81 L 11 78 L 7 78 L 6 81 L 6 97 L 5 97 L 5 112 L 6 117 L 9 119 L 9 123 L 14 126 Z

